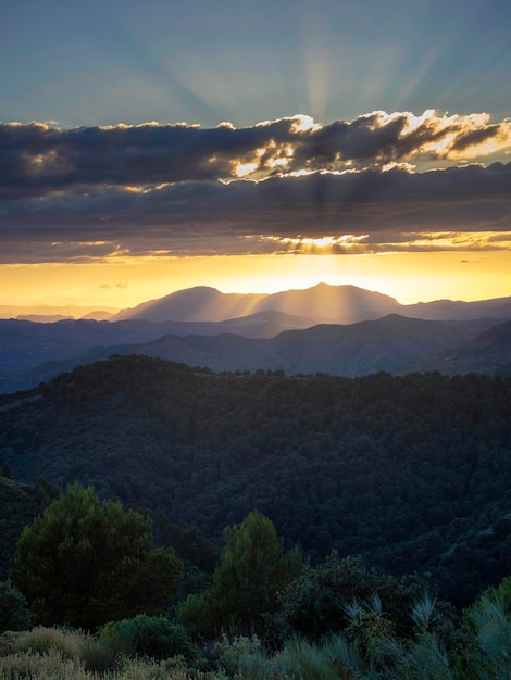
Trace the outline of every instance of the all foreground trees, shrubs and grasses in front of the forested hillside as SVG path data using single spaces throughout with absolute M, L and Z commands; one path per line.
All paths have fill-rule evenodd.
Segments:
M 397 579 L 335 553 L 312 566 L 253 512 L 225 528 L 202 592 L 178 599 L 183 563 L 172 547 L 150 546 L 150 529 L 141 514 L 77 484 L 25 527 L 0 584 L 0 678 L 511 673 L 511 578 L 456 612 L 416 576 Z

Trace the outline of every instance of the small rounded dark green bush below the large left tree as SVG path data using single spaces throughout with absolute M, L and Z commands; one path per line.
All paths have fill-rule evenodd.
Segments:
M 132 657 L 191 658 L 196 653 L 185 628 L 164 616 L 139 614 L 122 621 L 111 621 L 99 629 L 97 639 L 117 654 Z

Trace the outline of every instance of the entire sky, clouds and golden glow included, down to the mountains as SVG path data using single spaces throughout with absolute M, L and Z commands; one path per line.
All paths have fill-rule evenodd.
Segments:
M 20 0 L 0 305 L 511 295 L 511 3 Z

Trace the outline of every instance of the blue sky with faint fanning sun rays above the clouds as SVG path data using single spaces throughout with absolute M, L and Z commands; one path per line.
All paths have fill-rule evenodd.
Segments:
M 374 110 L 510 114 L 503 0 L 21 0 L 0 27 L 0 119 L 249 125 Z

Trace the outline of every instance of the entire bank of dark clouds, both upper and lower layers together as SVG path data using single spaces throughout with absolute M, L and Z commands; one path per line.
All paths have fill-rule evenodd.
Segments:
M 3 124 L 0 262 L 509 248 L 510 149 L 510 119 L 434 111 Z

